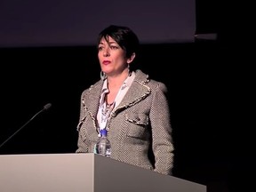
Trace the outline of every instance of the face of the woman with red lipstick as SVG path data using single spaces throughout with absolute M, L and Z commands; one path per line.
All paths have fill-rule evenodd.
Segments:
M 101 38 L 98 59 L 101 70 L 108 76 L 121 74 L 130 62 L 125 56 L 125 51 L 110 36 L 108 36 L 108 42 L 104 37 Z

